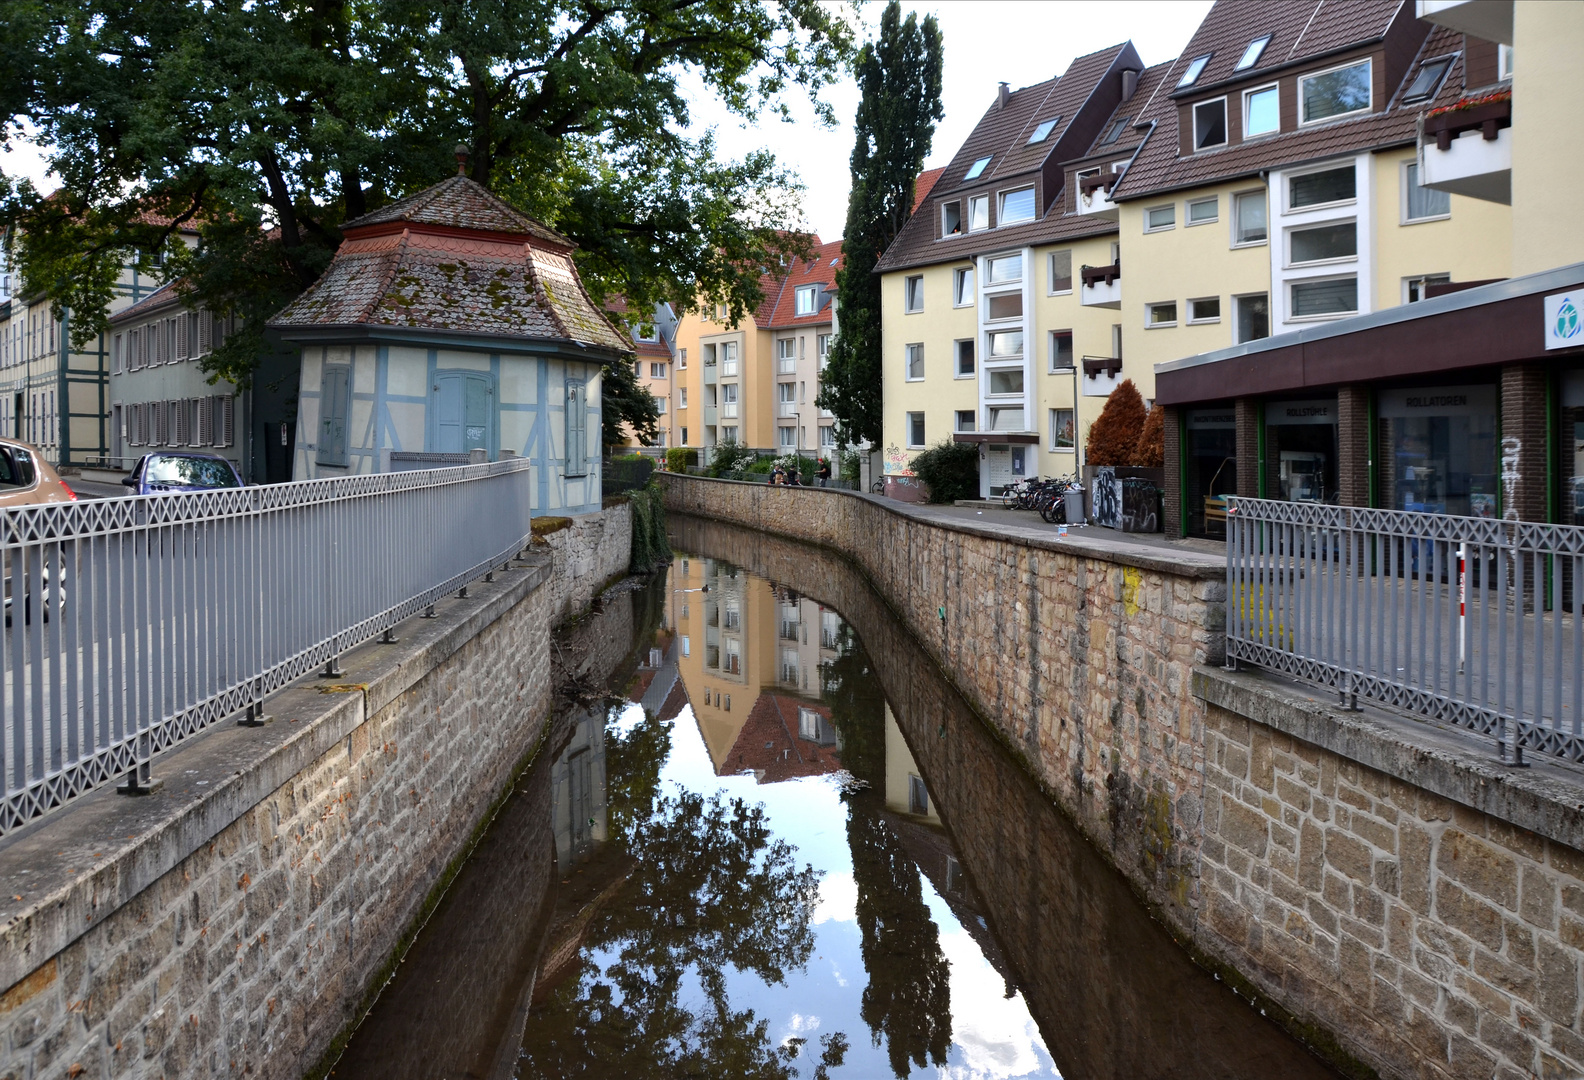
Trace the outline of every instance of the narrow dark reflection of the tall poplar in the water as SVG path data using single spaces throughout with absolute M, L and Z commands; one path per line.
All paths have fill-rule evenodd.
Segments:
M 841 733 L 841 762 L 873 793 L 847 801 L 847 846 L 859 887 L 859 931 L 870 983 L 863 1021 L 874 1045 L 885 1039 L 892 1070 L 908 1063 L 946 1064 L 952 1042 L 950 964 L 941 933 L 923 903 L 919 868 L 878 812 L 885 789 L 885 698 L 868 652 L 843 624 L 836 659 L 821 667 L 821 698 Z

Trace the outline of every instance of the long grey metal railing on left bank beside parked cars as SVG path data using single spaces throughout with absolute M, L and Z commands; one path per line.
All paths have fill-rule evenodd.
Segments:
M 0 833 L 429 608 L 529 542 L 526 459 L 0 510 Z

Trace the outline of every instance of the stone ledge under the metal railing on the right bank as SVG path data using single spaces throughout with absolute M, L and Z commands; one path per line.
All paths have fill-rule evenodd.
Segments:
M 1530 768 L 1513 768 L 1497 760 L 1495 741 L 1487 736 L 1376 708 L 1343 713 L 1327 705 L 1324 690 L 1258 670 L 1198 667 L 1193 694 L 1405 784 L 1584 850 L 1584 773 L 1570 765 L 1533 759 Z

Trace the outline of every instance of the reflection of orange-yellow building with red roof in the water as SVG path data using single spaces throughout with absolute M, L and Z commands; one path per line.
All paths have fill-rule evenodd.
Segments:
M 840 770 L 819 665 L 841 618 L 719 559 L 678 556 L 670 573 L 678 673 L 714 771 L 771 784 Z

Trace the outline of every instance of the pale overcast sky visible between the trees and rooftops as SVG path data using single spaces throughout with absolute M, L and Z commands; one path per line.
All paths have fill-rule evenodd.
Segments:
M 863 5 L 868 27 L 879 24 L 881 10 L 874 0 Z M 1188 44 L 1210 0 L 935 0 L 903 3 L 903 10 L 935 14 L 946 44 L 941 90 L 946 119 L 925 162 L 925 168 L 935 168 L 949 162 L 973 131 L 995 100 L 996 82 L 1011 82 L 1014 89 L 1041 82 L 1064 71 L 1072 57 L 1128 38 L 1145 63 L 1161 63 Z M 737 158 L 757 147 L 775 150 L 808 185 L 805 225 L 833 241 L 847 215 L 847 157 L 859 92 L 846 81 L 825 97 L 836 109 L 835 128 L 816 124 L 805 95 L 792 95 L 792 124 L 765 120 L 744 127 L 703 93 L 694 98 L 692 120 L 695 130 L 716 128 L 722 155 Z M 32 177 L 44 190 L 57 185 L 46 176 L 38 150 L 22 143 L 0 152 L 0 168 L 8 176 Z

